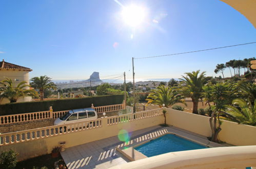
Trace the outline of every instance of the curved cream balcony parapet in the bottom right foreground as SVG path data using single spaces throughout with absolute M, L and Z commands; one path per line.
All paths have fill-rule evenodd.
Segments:
M 111 169 L 245 168 L 248 166 L 256 166 L 256 145 L 172 152 L 116 165 Z

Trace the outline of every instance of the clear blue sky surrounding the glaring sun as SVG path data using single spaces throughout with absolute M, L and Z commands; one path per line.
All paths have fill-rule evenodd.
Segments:
M 124 22 L 113 0 L 2 0 L 0 59 L 33 69 L 30 77 L 132 77 L 131 57 L 180 53 L 256 41 L 250 22 L 219 0 L 119 1 L 146 11 L 140 26 Z M 133 36 L 133 38 L 131 38 Z M 256 57 L 256 45 L 134 60 L 135 78 L 180 78 L 213 71 L 230 59 Z M 226 76 L 230 76 L 226 70 Z

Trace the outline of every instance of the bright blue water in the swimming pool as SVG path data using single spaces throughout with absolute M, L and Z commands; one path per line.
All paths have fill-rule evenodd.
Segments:
M 147 157 L 152 157 L 164 153 L 206 148 L 208 147 L 181 138 L 174 134 L 166 134 L 159 138 L 153 139 L 145 144 L 137 146 L 134 149 L 141 152 Z

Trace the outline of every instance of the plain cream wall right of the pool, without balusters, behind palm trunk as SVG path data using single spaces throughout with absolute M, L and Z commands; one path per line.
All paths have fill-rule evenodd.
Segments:
M 206 137 L 211 136 L 209 117 L 166 109 L 167 124 Z M 232 145 L 256 145 L 256 126 L 222 120 L 219 139 Z

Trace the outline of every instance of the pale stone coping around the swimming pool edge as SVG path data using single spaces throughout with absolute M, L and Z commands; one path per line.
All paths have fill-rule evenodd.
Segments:
M 179 136 L 183 139 L 186 139 L 186 140 L 189 140 L 189 141 L 192 141 L 194 143 L 198 143 L 200 145 L 203 145 L 203 146 L 206 146 L 206 147 L 220 147 L 220 146 L 224 146 L 222 144 L 218 144 L 218 143 L 215 143 L 215 142 L 212 142 L 212 141 L 209 141 L 208 139 L 205 139 L 205 138 L 202 138 L 202 137 L 199 137 L 199 136 L 195 136 L 193 135 L 192 133 L 187 133 L 187 132 L 184 132 L 184 131 L 180 131 L 180 130 L 175 130 L 174 128 L 172 127 L 168 127 L 166 128 L 168 132 L 164 133 L 163 135 L 160 135 L 160 136 L 156 136 L 152 139 L 149 139 L 147 141 L 144 141 L 144 142 L 141 142 L 141 143 L 138 143 L 134 146 L 130 146 L 128 147 L 127 149 L 121 149 L 120 147 L 116 147 L 116 150 L 118 152 L 120 152 L 122 155 L 124 155 L 126 158 L 128 158 L 129 160 L 131 161 L 135 161 L 135 160 L 140 160 L 140 159 L 144 159 L 144 158 L 148 158 L 146 155 L 142 154 L 141 152 L 135 150 L 134 148 L 137 147 L 137 146 L 140 146 L 142 144 L 145 144 L 147 142 L 150 142 L 151 140 L 154 140 L 154 139 L 157 139 L 159 137 L 162 137 L 166 134 L 173 134 L 173 135 L 176 135 L 176 136 Z M 170 131 L 171 130 L 171 131 Z

